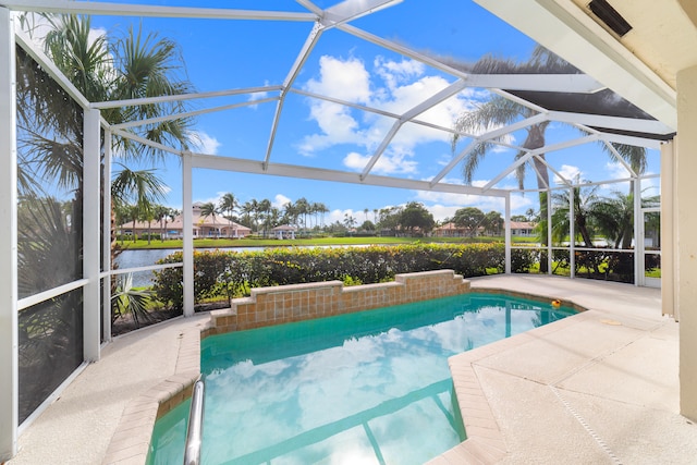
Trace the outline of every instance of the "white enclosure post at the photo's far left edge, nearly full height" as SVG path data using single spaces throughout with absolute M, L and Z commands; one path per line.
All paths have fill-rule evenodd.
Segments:
M 0 7 L 0 462 L 17 452 L 17 151 L 14 23 Z

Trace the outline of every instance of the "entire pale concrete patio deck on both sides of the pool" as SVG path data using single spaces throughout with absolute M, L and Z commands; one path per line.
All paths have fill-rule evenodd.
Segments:
M 660 315 L 659 290 L 521 274 L 472 283 L 589 310 L 452 357 L 469 439 L 429 464 L 697 463 L 697 426 L 678 413 L 677 323 Z M 176 372 L 181 335 L 207 319 L 115 339 L 9 463 L 102 463 L 129 402 Z

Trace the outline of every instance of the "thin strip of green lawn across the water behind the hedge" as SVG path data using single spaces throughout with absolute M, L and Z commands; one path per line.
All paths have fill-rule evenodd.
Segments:
M 288 247 L 288 246 L 308 246 L 308 245 L 380 245 L 380 244 L 473 244 L 473 243 L 492 243 L 503 242 L 500 236 L 480 236 L 480 237 L 314 237 L 314 238 L 296 238 L 296 240 L 277 240 L 277 238 L 196 238 L 194 240 L 195 248 L 223 248 L 223 247 Z M 514 243 L 536 242 L 535 237 L 514 237 Z M 147 249 L 147 248 L 182 248 L 182 240 L 169 241 L 147 241 L 138 240 L 118 242 L 119 246 L 127 249 Z

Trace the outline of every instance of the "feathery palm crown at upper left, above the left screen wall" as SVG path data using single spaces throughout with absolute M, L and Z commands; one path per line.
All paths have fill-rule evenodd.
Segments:
M 89 16 L 51 16 L 46 51 L 56 65 L 89 101 L 123 100 L 187 94 L 193 90 L 183 73 L 176 44 L 156 34 L 143 36 L 130 29 L 121 38 L 90 36 Z M 186 110 L 182 102 L 112 108 L 102 117 L 112 124 L 150 119 Z M 164 145 L 188 148 L 191 119 L 178 119 L 132 129 L 136 134 Z M 82 134 L 82 130 L 81 130 Z M 127 158 L 158 159 L 158 149 L 117 138 L 120 152 Z

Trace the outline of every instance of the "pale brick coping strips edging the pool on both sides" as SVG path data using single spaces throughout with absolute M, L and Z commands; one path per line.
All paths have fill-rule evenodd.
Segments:
M 466 281 L 466 280 L 464 280 Z M 386 283 L 390 284 L 390 283 Z M 303 286 L 303 284 L 299 284 Z M 548 296 L 522 293 L 497 287 L 470 287 L 469 293 L 499 293 L 509 296 L 545 301 Z M 514 347 L 536 336 L 561 328 L 560 323 L 576 318 L 586 310 L 570 299 L 562 305 L 579 311 L 562 320 L 535 328 L 481 347 L 477 347 L 449 358 L 449 367 L 455 391 L 455 400 L 467 439 L 441 455 L 427 462 L 428 465 L 454 463 L 498 463 L 508 454 L 501 429 L 491 412 L 489 402 L 477 379 L 474 365 L 503 348 Z M 368 309 L 369 310 L 369 309 Z M 227 310 L 219 310 L 227 311 Z M 194 382 L 200 376 L 200 341 L 213 335 L 215 315 L 211 313 L 205 325 L 192 325 L 180 334 L 179 353 L 174 374 L 131 400 L 124 408 L 117 430 L 109 443 L 102 464 L 144 464 L 150 449 L 152 430 L 157 419 L 191 397 Z M 553 328 L 550 328 L 553 327 Z

